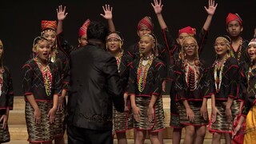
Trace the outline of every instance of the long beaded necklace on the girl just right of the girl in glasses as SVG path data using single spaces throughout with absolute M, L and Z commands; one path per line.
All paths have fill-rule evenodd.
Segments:
M 222 85 L 222 73 L 223 73 L 223 68 L 225 66 L 225 62 L 227 58 L 229 57 L 226 57 L 224 59 L 224 62 L 221 63 L 221 66 L 219 66 L 218 60 L 214 62 L 214 81 L 215 81 L 215 89 L 217 93 L 219 92 Z

